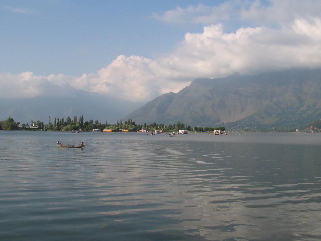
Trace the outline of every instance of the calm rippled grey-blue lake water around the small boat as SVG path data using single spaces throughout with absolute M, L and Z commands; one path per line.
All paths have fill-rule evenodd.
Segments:
M 321 134 L 0 138 L 0 240 L 321 239 Z

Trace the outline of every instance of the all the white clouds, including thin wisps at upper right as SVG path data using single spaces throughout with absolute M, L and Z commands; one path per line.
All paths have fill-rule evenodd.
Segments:
M 227 1 L 177 8 L 163 21 L 209 23 L 203 32 L 188 32 L 177 47 L 150 59 L 119 55 L 97 73 L 79 77 L 0 74 L 4 96 L 68 94 L 68 86 L 108 94 L 132 102 L 147 102 L 178 92 L 198 77 L 224 77 L 235 72 L 256 74 L 293 67 L 321 67 L 321 9 L 319 1 Z M 235 15 L 233 15 L 235 13 Z M 274 14 L 272 14 L 274 13 Z M 190 16 L 190 18 L 188 17 Z M 225 31 L 224 22 L 237 18 L 256 24 Z M 180 20 L 178 20 L 180 19 Z M 220 22 L 221 21 L 221 22 Z M 246 25 L 245 25 L 246 26 Z

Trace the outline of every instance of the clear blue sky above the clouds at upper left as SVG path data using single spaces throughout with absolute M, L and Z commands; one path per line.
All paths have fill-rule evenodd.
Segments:
M 106 67 L 122 54 L 152 58 L 174 48 L 185 32 L 203 28 L 164 24 L 153 14 L 192 3 L 0 1 L 0 72 L 79 76 Z

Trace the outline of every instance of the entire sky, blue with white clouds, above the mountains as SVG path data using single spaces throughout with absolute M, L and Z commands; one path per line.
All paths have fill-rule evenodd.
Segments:
M 320 0 L 0 0 L 0 97 L 71 85 L 146 102 L 198 77 L 318 68 L 320 10 Z

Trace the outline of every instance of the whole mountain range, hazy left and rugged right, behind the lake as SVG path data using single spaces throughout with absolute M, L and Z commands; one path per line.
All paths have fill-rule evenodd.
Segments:
M 131 119 L 136 124 L 180 121 L 192 127 L 298 128 L 320 120 L 320 97 L 321 69 L 198 78 L 178 93 L 163 94 L 146 104 L 68 85 L 46 96 L 0 96 L 0 121 L 12 117 L 21 124 L 48 123 L 49 116 L 53 122 L 56 117 L 84 115 L 85 121 L 111 124 Z

